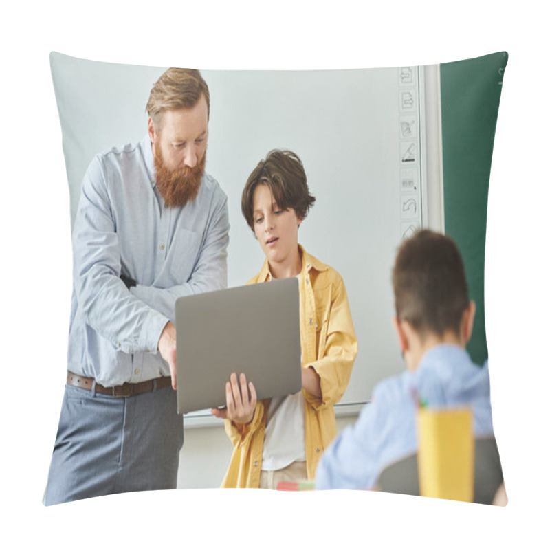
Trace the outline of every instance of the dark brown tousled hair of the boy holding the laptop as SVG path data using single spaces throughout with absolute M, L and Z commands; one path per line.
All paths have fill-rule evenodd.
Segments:
M 292 151 L 274 149 L 267 153 L 248 177 L 241 210 L 246 223 L 254 231 L 254 190 L 260 184 L 267 185 L 279 208 L 292 208 L 300 219 L 304 219 L 315 197 L 309 194 L 307 178 L 302 161 Z

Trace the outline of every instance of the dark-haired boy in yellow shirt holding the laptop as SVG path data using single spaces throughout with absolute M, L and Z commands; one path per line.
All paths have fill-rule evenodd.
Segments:
M 334 404 L 347 388 L 358 344 L 342 277 L 298 244 L 298 228 L 314 201 L 291 151 L 271 151 L 243 190 L 243 215 L 265 254 L 249 284 L 299 278 L 302 391 L 257 401 L 252 381 L 231 375 L 226 408 L 212 409 L 225 419 L 234 446 L 222 487 L 274 489 L 280 481 L 313 479 L 336 437 Z

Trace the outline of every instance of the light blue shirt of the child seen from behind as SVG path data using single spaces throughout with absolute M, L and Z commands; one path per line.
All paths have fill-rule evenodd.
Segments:
M 391 463 L 417 452 L 417 399 L 430 407 L 472 407 L 476 437 L 493 434 L 489 371 L 464 349 L 430 349 L 414 372 L 380 382 L 373 401 L 322 455 L 316 489 L 372 489 Z

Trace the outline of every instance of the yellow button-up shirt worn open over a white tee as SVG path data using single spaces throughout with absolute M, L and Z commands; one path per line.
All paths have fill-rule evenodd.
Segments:
M 344 395 L 358 344 L 344 281 L 336 270 L 307 254 L 300 246 L 300 344 L 302 367 L 312 366 L 320 377 L 322 398 L 302 390 L 305 399 L 307 477 L 314 479 L 322 452 L 336 437 L 334 404 Z M 272 278 L 267 260 L 248 284 Z M 252 381 L 253 382 L 253 381 Z M 259 487 L 265 419 L 270 399 L 256 404 L 247 424 L 225 421 L 233 454 L 221 487 Z

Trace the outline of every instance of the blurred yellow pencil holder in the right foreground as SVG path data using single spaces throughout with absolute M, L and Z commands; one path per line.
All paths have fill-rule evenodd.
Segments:
M 474 500 L 474 436 L 470 408 L 417 411 L 421 496 Z

